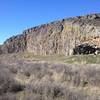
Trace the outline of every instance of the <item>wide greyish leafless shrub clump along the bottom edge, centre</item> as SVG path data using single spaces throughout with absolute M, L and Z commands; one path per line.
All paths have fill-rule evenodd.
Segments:
M 40 95 L 41 100 L 91 100 L 87 99 L 84 91 L 75 91 L 57 83 L 36 83 L 28 85 L 27 90 Z

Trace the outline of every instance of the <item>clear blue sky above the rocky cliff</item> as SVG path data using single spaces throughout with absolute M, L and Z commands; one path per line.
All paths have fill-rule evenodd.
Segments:
M 29 27 L 99 12 L 100 0 L 0 0 L 0 43 Z

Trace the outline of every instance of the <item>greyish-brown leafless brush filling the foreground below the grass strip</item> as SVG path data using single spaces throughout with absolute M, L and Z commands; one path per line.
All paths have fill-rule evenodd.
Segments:
M 15 74 L 25 75 L 29 81 L 31 75 L 35 78 L 22 86 L 14 80 Z M 55 76 L 60 79 L 56 80 Z M 13 64 L 1 63 L 0 100 L 20 100 L 16 97 L 20 92 L 23 94 L 21 100 L 100 100 L 99 94 L 86 94 L 83 89 L 89 85 L 100 88 L 99 76 L 100 67 L 96 65 L 33 63 L 24 60 L 16 60 Z M 63 83 L 69 83 L 68 86 L 74 88 Z

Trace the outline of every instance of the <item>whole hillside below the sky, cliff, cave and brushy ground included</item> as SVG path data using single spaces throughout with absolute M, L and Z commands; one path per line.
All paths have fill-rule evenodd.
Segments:
M 36 26 L 0 45 L 0 100 L 100 100 L 100 14 Z

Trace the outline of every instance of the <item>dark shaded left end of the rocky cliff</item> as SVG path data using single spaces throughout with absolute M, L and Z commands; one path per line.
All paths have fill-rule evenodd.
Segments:
M 27 45 L 26 34 L 13 36 L 2 45 L 2 53 L 17 53 L 25 51 Z

